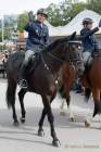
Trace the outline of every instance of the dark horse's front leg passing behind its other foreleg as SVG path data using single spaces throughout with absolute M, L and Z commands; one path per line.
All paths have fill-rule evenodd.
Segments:
M 53 101 L 54 97 L 55 97 L 55 94 L 51 98 L 50 104 Z M 42 126 L 43 126 L 43 121 L 45 121 L 46 115 L 47 115 L 47 110 L 43 107 L 42 114 L 41 114 L 41 117 L 40 117 L 40 121 L 38 124 L 39 125 L 38 136 L 41 136 L 41 137 L 45 136 L 45 131 L 43 131 Z

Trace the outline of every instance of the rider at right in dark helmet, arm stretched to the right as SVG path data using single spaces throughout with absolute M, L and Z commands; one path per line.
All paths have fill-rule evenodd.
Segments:
M 88 37 L 83 39 L 83 47 L 84 47 L 83 58 L 84 58 L 85 65 L 87 64 L 89 65 L 93 52 L 99 51 L 98 42 L 93 37 L 93 34 L 99 30 L 99 27 L 92 29 L 92 24 L 93 21 L 91 18 L 85 18 L 83 21 L 84 28 L 80 30 L 81 36 L 88 35 Z

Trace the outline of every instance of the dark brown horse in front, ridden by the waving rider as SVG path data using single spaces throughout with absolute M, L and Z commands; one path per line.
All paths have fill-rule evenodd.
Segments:
M 27 91 L 36 92 L 41 96 L 43 110 L 39 121 L 38 135 L 42 136 L 43 132 L 43 121 L 46 115 L 50 124 L 51 136 L 53 138 L 52 144 L 55 147 L 60 145 L 59 139 L 54 129 L 54 117 L 51 110 L 51 102 L 56 94 L 56 84 L 58 74 L 62 65 L 66 62 L 77 66 L 78 72 L 84 68 L 81 64 L 81 43 L 79 41 L 70 41 L 72 37 L 61 38 L 55 40 L 43 51 L 37 54 L 37 65 L 29 71 L 27 68 L 27 80 L 28 88 L 21 89 L 18 92 L 21 109 L 22 109 L 22 121 L 25 121 L 25 107 L 23 103 L 24 96 Z M 7 103 L 9 107 L 12 107 L 14 124 L 17 125 L 17 115 L 15 111 L 15 92 L 16 86 L 18 84 L 22 63 L 24 60 L 24 52 L 16 52 L 12 54 L 7 63 L 7 74 L 8 74 L 8 89 L 7 89 Z M 73 58 L 73 59 L 72 59 Z M 73 61 L 77 59 L 77 61 Z

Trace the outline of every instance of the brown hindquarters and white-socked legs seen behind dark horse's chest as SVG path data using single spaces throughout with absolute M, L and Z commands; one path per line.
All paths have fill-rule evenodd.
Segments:
M 71 87 L 73 86 L 75 79 L 76 79 L 76 67 L 72 67 L 70 64 L 64 64 L 62 69 L 61 69 L 61 74 L 62 74 L 62 87 L 60 89 L 60 93 L 62 96 L 62 98 L 66 99 L 66 104 L 67 104 L 67 110 L 70 113 L 70 119 L 72 122 L 74 122 L 74 114 L 72 113 L 71 110 Z M 61 105 L 61 115 L 64 115 L 64 111 L 63 111 L 63 106 L 64 106 L 64 101 L 62 102 Z

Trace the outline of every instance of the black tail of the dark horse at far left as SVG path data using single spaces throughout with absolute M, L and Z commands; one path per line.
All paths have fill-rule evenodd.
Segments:
M 7 105 L 9 109 L 15 103 L 16 85 L 16 81 L 12 77 L 8 77 Z

